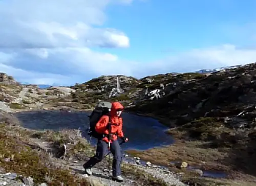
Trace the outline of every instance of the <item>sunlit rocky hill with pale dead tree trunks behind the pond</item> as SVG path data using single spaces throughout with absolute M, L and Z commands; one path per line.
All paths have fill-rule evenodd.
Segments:
M 190 81 L 201 79 L 207 75 L 199 73 L 186 74 L 164 74 L 148 76 L 142 79 L 135 79 L 126 76 L 101 76 L 83 84 L 71 86 L 76 92 L 72 94 L 73 102 L 90 104 L 98 100 L 120 101 L 125 106 L 133 107 L 138 102 L 157 99 L 154 97 L 154 90 L 159 91 L 160 97 L 175 90 Z M 111 96 L 116 91 L 117 77 L 121 91 L 119 94 Z

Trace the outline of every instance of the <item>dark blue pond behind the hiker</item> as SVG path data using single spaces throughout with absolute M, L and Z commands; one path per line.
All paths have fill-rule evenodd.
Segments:
M 87 128 L 89 126 L 88 115 L 91 112 L 84 111 L 27 111 L 18 112 L 16 117 L 22 126 L 34 130 L 60 130 L 63 128 L 78 129 L 82 135 L 89 139 Z M 146 150 L 157 146 L 165 146 L 174 143 L 172 136 L 164 133 L 168 128 L 157 120 L 141 117 L 131 113 L 122 113 L 123 132 L 129 138 L 129 143 L 122 145 L 123 150 Z M 95 144 L 96 140 L 92 141 Z

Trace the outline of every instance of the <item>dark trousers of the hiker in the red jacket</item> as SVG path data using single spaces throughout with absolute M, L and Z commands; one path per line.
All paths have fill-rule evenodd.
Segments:
M 122 154 L 120 145 L 117 140 L 111 143 L 110 151 L 114 156 L 112 164 L 113 176 L 119 176 L 121 175 Z M 95 164 L 100 162 L 108 152 L 108 143 L 99 140 L 97 143 L 96 154 L 84 164 L 84 167 L 86 167 L 87 169 L 92 168 L 93 166 L 95 166 Z

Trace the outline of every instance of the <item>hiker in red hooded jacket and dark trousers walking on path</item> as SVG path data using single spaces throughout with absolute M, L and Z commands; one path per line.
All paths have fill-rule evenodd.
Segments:
M 123 142 L 128 139 L 124 137 L 122 131 L 122 118 L 120 117 L 124 107 L 119 102 L 113 102 L 109 115 L 103 115 L 95 126 L 95 131 L 101 135 L 98 138 L 96 154 L 91 157 L 83 168 L 88 175 L 92 175 L 91 168 L 100 162 L 104 156 L 111 151 L 114 156 L 112 170 L 112 179 L 123 181 L 121 177 L 122 154 L 117 137 L 122 138 Z M 110 145 L 110 149 L 109 149 Z

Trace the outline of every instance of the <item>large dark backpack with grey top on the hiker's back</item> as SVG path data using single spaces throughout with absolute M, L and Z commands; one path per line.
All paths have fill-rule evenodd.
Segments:
M 102 137 L 102 134 L 99 134 L 95 130 L 95 126 L 98 123 L 99 119 L 103 115 L 109 115 L 112 104 L 110 102 L 99 102 L 94 108 L 93 112 L 89 116 L 90 126 L 88 128 L 88 135 L 95 137 L 97 139 Z

